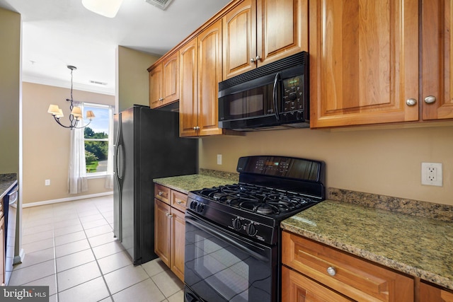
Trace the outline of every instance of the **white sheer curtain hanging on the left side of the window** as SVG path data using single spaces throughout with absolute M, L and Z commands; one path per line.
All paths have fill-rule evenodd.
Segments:
M 78 104 L 84 112 L 83 104 Z M 77 124 L 80 127 L 84 120 Z M 69 151 L 69 194 L 77 194 L 88 191 L 85 163 L 84 128 L 72 129 L 71 149 Z

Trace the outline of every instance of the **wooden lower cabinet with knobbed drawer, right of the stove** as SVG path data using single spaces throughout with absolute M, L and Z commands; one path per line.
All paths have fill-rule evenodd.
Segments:
M 414 301 L 413 278 L 286 231 L 282 264 L 282 302 Z

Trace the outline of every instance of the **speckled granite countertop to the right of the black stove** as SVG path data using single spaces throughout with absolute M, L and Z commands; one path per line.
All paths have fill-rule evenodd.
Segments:
M 453 223 L 325 200 L 283 229 L 453 289 Z

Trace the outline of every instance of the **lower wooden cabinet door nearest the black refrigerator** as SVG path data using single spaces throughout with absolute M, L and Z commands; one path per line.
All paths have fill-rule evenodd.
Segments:
M 170 206 L 154 199 L 154 252 L 170 267 Z

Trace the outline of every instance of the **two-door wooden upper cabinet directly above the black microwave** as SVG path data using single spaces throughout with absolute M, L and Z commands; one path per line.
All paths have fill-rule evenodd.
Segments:
M 308 50 L 307 0 L 243 0 L 222 23 L 223 80 Z

